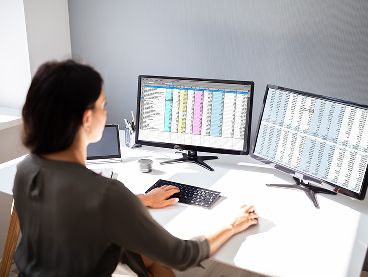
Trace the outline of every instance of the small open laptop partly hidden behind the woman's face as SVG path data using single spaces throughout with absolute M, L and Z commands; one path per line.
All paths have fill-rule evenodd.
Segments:
M 86 164 L 121 162 L 119 125 L 105 125 L 102 138 L 87 146 Z

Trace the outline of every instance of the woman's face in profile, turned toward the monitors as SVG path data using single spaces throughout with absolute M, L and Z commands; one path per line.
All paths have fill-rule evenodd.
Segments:
M 95 106 L 92 110 L 90 143 L 95 143 L 101 140 L 107 119 L 105 105 L 106 97 L 103 89 L 101 89 L 101 94 L 95 102 Z

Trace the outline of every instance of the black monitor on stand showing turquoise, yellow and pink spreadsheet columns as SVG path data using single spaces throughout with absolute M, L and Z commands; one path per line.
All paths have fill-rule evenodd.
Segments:
M 136 144 L 186 150 L 180 159 L 213 170 L 197 151 L 248 155 L 254 83 L 138 77 Z

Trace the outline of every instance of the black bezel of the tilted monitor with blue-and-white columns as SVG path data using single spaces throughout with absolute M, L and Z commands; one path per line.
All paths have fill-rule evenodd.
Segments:
M 265 95 L 263 98 L 263 102 L 262 102 L 262 108 L 261 108 L 261 113 L 258 119 L 258 123 L 257 123 L 257 129 L 256 129 L 256 134 L 255 134 L 255 138 L 253 140 L 253 145 L 252 145 L 252 150 L 250 153 L 250 156 L 255 159 L 258 160 L 262 163 L 265 163 L 267 165 L 270 165 L 280 171 L 283 171 L 287 174 L 290 174 L 292 176 L 295 176 L 299 179 L 302 179 L 304 181 L 308 181 L 308 182 L 313 182 L 313 183 L 317 183 L 319 184 L 321 187 L 327 188 L 329 190 L 333 190 L 333 188 L 331 189 L 331 187 L 337 187 L 338 190 L 336 190 L 337 192 L 350 196 L 352 198 L 358 199 L 358 200 L 363 200 L 366 194 L 366 190 L 368 187 L 368 168 L 365 171 L 365 175 L 362 181 L 362 188 L 360 190 L 360 193 L 356 193 L 353 192 L 351 190 L 348 190 L 346 188 L 340 187 L 336 184 L 330 183 L 326 180 L 323 179 L 319 179 L 313 175 L 310 175 L 308 173 L 305 173 L 303 171 L 299 171 L 296 170 L 294 168 L 288 167 L 287 165 L 283 165 L 283 164 L 279 164 L 277 162 L 275 162 L 274 160 L 259 156 L 258 154 L 254 153 L 256 144 L 257 144 L 257 138 L 258 138 L 258 133 L 260 130 L 260 126 L 261 126 L 261 121 L 262 121 L 262 116 L 263 116 L 263 112 L 264 112 L 264 108 L 266 105 L 266 100 L 267 100 L 267 95 L 269 92 L 269 89 L 277 89 L 277 90 L 283 90 L 283 91 L 287 91 L 287 92 L 291 92 L 291 93 L 295 93 L 295 94 L 299 94 L 299 95 L 303 95 L 303 96 L 309 96 L 309 97 L 313 97 L 313 98 L 317 98 L 317 99 L 321 99 L 321 100 L 327 100 L 327 101 L 331 101 L 331 102 L 335 102 L 338 104 L 343 104 L 343 105 L 349 105 L 352 107 L 356 107 L 356 108 L 363 108 L 365 110 L 368 110 L 368 105 L 364 105 L 364 104 L 359 104 L 359 103 L 355 103 L 355 102 L 351 102 L 348 100 L 343 100 L 343 99 L 338 99 L 338 98 L 333 98 L 333 97 L 328 97 L 328 96 L 323 96 L 323 95 L 319 95 L 319 94 L 313 94 L 313 93 L 309 93 L 309 92 L 304 92 L 304 91 L 299 91 L 299 90 L 294 90 L 294 89 L 289 89 L 289 88 L 285 88 L 285 87 L 281 87 L 281 86 L 275 86 L 275 85 L 270 85 L 268 84 L 266 86 L 266 91 L 265 91 Z

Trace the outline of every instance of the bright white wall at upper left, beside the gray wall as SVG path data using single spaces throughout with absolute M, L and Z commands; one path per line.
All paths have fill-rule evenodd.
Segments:
M 67 0 L 0 0 L 0 106 L 22 109 L 31 76 L 72 56 Z

